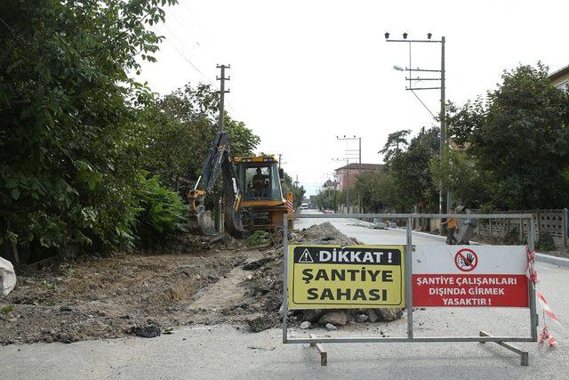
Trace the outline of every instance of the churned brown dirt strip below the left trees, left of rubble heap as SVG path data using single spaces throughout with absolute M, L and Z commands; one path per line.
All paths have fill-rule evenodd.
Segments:
M 228 237 L 188 236 L 158 252 L 20 268 L 15 289 L 0 299 L 0 345 L 152 337 L 215 321 L 218 313 L 202 315 L 191 306 L 204 289 L 260 255 L 240 246 Z

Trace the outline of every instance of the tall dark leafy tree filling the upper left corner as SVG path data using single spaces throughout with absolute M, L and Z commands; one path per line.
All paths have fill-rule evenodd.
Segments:
M 5 0 L 0 5 L 0 238 L 36 250 L 132 243 L 136 110 L 132 75 L 175 0 Z

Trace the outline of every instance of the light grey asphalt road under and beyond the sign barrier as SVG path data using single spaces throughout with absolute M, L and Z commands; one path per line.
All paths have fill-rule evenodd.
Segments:
M 370 230 L 341 220 L 333 223 L 365 243 L 405 241 L 405 233 L 397 230 Z M 440 244 L 438 239 L 431 240 Z M 320 367 L 314 349 L 307 344 L 282 344 L 279 329 L 252 334 L 244 327 L 223 325 L 189 327 L 153 339 L 0 347 L 0 374 L 3 378 L 566 378 L 569 270 L 547 263 L 538 263 L 537 270 L 541 290 L 562 325 L 550 324 L 557 339 L 553 349 L 537 343 L 516 344 L 530 353 L 529 367 L 521 367 L 519 356 L 498 344 L 477 343 L 325 344 L 328 367 Z M 405 327 L 404 318 L 389 325 L 309 333 L 379 336 L 383 331 L 405 336 Z M 414 313 L 414 329 L 415 336 L 471 336 L 479 330 L 527 336 L 529 314 L 516 309 L 433 308 Z M 309 334 L 299 329 L 290 333 Z

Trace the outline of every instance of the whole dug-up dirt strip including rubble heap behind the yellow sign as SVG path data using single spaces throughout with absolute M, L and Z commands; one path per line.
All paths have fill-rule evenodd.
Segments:
M 291 241 L 357 244 L 328 222 L 298 231 Z M 151 337 L 193 323 L 275 327 L 282 265 L 279 245 L 245 248 L 233 239 L 188 237 L 159 251 L 20 269 L 16 288 L 0 300 L 0 344 Z M 289 321 L 325 326 L 333 316 L 344 323 L 400 317 L 400 310 L 326 312 L 293 311 Z M 369 318 L 362 320 L 362 313 Z

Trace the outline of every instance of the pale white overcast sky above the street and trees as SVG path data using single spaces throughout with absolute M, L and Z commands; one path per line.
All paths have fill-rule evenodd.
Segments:
M 260 136 L 259 151 L 283 155 L 308 195 L 346 150 L 357 162 L 357 141 L 336 136 L 361 137 L 362 162 L 379 164 L 389 133 L 436 124 L 393 69 L 409 66 L 409 44 L 387 43 L 386 31 L 445 36 L 446 99 L 458 105 L 494 89 L 504 69 L 569 64 L 565 1 L 179 1 L 155 28 L 166 39 L 140 80 L 160 94 L 217 87 L 216 65 L 230 64 L 228 113 Z M 413 69 L 440 69 L 440 47 L 412 44 Z M 439 90 L 416 93 L 437 114 Z

